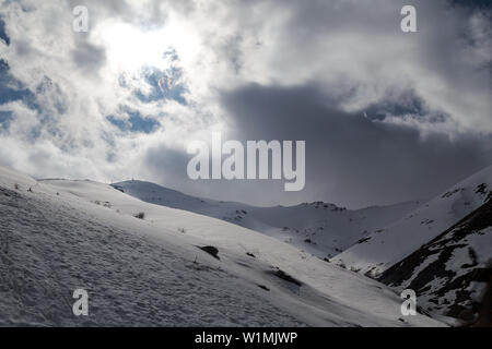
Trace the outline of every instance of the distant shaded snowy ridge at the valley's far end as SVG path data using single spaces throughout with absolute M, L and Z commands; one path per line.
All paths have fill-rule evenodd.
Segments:
M 320 258 L 337 255 L 368 233 L 405 217 L 419 205 L 419 202 L 408 202 L 351 210 L 314 202 L 290 207 L 254 207 L 188 196 L 136 180 L 115 183 L 113 186 L 148 203 L 186 209 L 260 231 Z

